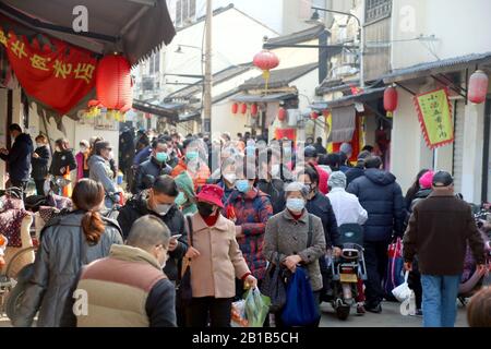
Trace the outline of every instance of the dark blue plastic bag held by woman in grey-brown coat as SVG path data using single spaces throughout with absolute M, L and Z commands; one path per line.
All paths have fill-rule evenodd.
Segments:
M 287 301 L 282 313 L 285 326 L 308 326 L 320 317 L 319 306 L 313 297 L 309 276 L 302 267 L 297 267 L 288 280 Z

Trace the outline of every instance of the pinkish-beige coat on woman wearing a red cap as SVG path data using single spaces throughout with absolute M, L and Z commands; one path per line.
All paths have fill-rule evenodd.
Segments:
M 197 213 L 191 219 L 192 244 L 200 252 L 191 261 L 193 297 L 235 297 L 236 277 L 242 278 L 250 273 L 236 240 L 235 224 L 221 215 L 213 227 L 208 227 Z

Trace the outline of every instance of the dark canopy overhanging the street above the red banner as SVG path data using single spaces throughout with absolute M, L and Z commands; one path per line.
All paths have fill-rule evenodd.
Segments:
M 87 9 L 87 33 L 73 31 L 73 11 L 81 2 Z M 123 52 L 131 65 L 176 35 L 165 0 L 2 0 L 0 13 L 96 53 Z

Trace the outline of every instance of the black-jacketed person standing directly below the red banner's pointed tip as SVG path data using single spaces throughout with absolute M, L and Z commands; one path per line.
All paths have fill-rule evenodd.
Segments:
M 55 142 L 56 152 L 52 155 L 51 166 L 49 168 L 49 173 L 55 176 L 55 178 L 62 177 L 67 181 L 71 181 L 71 171 L 76 169 L 75 157 L 73 156 L 73 149 L 70 148 L 69 141 L 65 139 L 59 139 Z M 72 184 L 64 185 L 62 188 L 62 193 L 64 197 L 72 196 Z

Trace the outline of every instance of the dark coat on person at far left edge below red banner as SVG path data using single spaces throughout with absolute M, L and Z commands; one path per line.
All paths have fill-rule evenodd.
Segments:
M 8 155 L 0 158 L 9 164 L 9 176 L 15 181 L 27 181 L 31 172 L 31 156 L 34 152 L 33 140 L 26 133 L 16 136 Z

